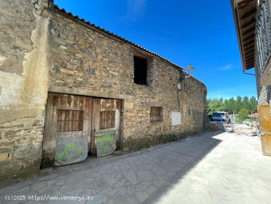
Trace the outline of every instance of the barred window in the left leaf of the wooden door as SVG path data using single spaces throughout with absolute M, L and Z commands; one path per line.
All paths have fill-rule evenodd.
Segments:
M 82 131 L 84 111 L 58 110 L 57 132 Z

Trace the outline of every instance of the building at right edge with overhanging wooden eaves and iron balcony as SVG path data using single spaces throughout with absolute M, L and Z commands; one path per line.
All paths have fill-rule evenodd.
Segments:
M 243 72 L 254 68 L 263 154 L 271 156 L 271 0 L 231 0 Z

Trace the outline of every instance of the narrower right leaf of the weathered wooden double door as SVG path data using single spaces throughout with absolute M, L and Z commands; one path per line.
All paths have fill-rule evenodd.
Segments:
M 120 148 L 120 111 L 119 99 L 93 99 L 90 149 L 98 158 Z

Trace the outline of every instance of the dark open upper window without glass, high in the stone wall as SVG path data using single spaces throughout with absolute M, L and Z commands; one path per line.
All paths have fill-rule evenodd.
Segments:
M 147 84 L 147 60 L 134 56 L 134 83 Z

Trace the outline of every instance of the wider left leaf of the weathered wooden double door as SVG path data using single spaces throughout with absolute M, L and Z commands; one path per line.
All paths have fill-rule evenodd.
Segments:
M 48 93 L 43 136 L 43 158 L 55 165 L 83 161 L 90 149 L 92 98 Z

